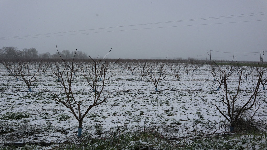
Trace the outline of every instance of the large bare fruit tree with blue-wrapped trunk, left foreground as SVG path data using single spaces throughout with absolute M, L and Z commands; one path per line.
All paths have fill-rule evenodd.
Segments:
M 78 121 L 78 137 L 82 135 L 83 120 L 88 112 L 94 106 L 100 105 L 104 101 L 107 101 L 109 97 L 114 96 L 114 92 L 104 91 L 104 88 L 107 87 L 110 78 L 116 74 L 113 74 L 116 67 L 112 68 L 113 64 L 109 63 L 108 60 L 105 60 L 105 57 L 102 59 L 92 59 L 90 57 L 92 62 L 81 62 L 79 66 L 81 74 L 77 74 L 75 76 L 74 70 L 77 66 L 74 62 L 75 54 L 71 62 L 66 62 L 62 58 L 65 70 L 64 72 L 59 71 L 60 80 L 58 82 L 62 88 L 58 89 L 57 92 L 46 89 L 46 92 L 52 94 L 52 100 L 60 102 L 65 106 L 65 108 L 72 112 L 73 116 Z M 57 70 L 57 67 L 54 70 Z M 75 82 L 80 80 L 81 77 L 86 80 L 86 82 L 84 82 L 85 85 L 77 87 Z M 102 80 L 100 81 L 99 79 L 101 77 Z M 87 96 L 81 98 L 80 90 L 85 91 L 86 89 L 89 91 L 86 94 Z M 91 104 L 88 106 L 88 103 L 90 102 Z

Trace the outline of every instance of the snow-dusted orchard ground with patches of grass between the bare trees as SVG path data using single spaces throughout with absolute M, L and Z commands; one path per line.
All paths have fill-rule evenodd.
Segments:
M 114 67 L 116 66 L 115 64 Z M 37 80 L 32 83 L 33 92 L 29 92 L 24 81 L 16 81 L 2 64 L 0 71 L 2 139 L 56 141 L 77 135 L 78 121 L 73 114 L 61 103 L 51 100 L 52 96 L 44 91 L 49 89 L 53 92 L 62 92 L 61 84 L 51 70 L 47 70 L 45 75 L 40 73 Z M 83 122 L 83 133 L 105 133 L 116 126 L 158 127 L 166 137 L 171 138 L 197 132 L 220 133 L 229 130 L 224 127 L 228 122 L 214 106 L 216 104 L 223 111 L 227 111 L 226 106 L 220 101 L 223 90 L 217 91 L 217 81 L 213 81 L 209 65 L 204 65 L 194 72 L 191 70 L 189 75 L 181 70 L 180 81 L 177 81 L 169 70 L 166 78 L 159 81 L 158 92 L 147 76 L 140 81 L 137 69 L 133 75 L 120 67 L 113 72 L 117 74 L 112 76 L 112 82 L 104 88 L 106 93 L 112 93 L 113 96 L 89 111 Z M 88 99 L 82 103 L 82 106 L 86 107 L 92 103 L 89 97 L 93 92 L 80 75 L 81 72 L 78 70 L 73 84 L 74 93 L 76 99 Z M 233 94 L 236 92 L 238 77 L 237 72 L 229 77 L 228 87 Z M 248 80 L 242 79 L 242 100 L 251 96 L 252 81 L 256 81 L 256 76 L 253 76 L 253 80 L 251 76 Z M 259 100 L 266 98 L 262 86 L 259 92 Z M 261 104 L 262 108 L 258 109 L 254 119 L 266 120 L 266 104 L 267 101 Z M 252 109 L 256 108 L 258 106 Z M 82 113 L 84 111 L 85 109 L 82 109 Z M 253 111 L 250 113 L 253 114 Z M 22 117 L 9 117 L 16 114 Z

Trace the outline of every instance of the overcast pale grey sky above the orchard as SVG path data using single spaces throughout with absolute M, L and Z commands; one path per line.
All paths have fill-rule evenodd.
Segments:
M 0 48 L 75 49 L 92 57 L 258 61 L 267 1 L 0 0 Z M 218 52 L 215 52 L 218 51 Z M 231 53 L 221 53 L 231 52 Z M 267 51 L 265 52 L 267 60 Z

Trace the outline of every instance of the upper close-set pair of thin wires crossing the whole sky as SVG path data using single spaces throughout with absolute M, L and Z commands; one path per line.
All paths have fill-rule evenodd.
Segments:
M 259 12 L 259 13 L 266 13 Z M 31 36 L 40 36 L 40 35 L 50 35 L 50 34 L 60 34 L 60 33 L 70 33 L 70 32 L 78 32 L 78 31 L 89 31 L 89 30 L 99 30 L 99 29 L 110 29 L 110 28 L 117 28 L 117 27 L 128 27 L 128 26 L 140 26 L 140 25 L 151 25 L 151 24 L 159 24 L 159 23 L 172 23 L 172 22 L 184 22 L 184 21 L 198 21 L 198 20 L 208 20 L 208 19 L 222 19 L 223 18 L 234 18 L 234 17 L 248 17 L 248 16 L 255 16 L 256 15 L 266 15 L 266 14 L 259 14 L 259 13 L 249 13 L 249 14 L 238 14 L 238 15 L 246 15 L 246 16 L 238 16 L 238 15 L 227 15 L 227 16 L 219 16 L 219 17 L 209 17 L 209 18 L 197 18 L 197 19 L 186 19 L 186 20 L 178 20 L 178 21 L 167 21 L 167 22 L 155 22 L 155 23 L 144 23 L 144 24 L 136 24 L 136 25 L 126 25 L 126 26 L 115 26 L 115 27 L 105 27 L 105 28 L 97 28 L 97 29 L 86 29 L 86 30 L 75 30 L 75 31 L 65 31 L 65 32 L 56 32 L 56 33 L 45 33 L 45 34 L 36 34 L 36 35 L 22 35 L 22 36 L 13 36 L 13 37 L 1 37 L 0 40 L 10 40 L 10 39 L 18 39 L 19 37 L 31 37 Z M 254 15 L 250 15 L 254 14 Z M 234 17 L 233 17 L 234 16 Z M 190 26 L 190 25 L 189 25 Z M 146 29 L 146 28 L 145 28 Z M 152 29 L 152 28 L 148 28 Z M 97 33 L 97 32 L 96 32 Z M 69 34 L 75 35 L 75 34 Z

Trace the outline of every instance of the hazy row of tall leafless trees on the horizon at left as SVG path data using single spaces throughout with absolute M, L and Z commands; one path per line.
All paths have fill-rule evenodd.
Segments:
M 48 60 L 48 59 L 71 59 L 73 58 L 75 51 L 70 52 L 69 50 L 62 50 L 62 52 L 56 52 L 55 54 L 41 53 L 39 54 L 36 48 L 24 48 L 18 50 L 18 48 L 13 46 L 5 46 L 0 49 L 0 59 L 1 60 Z M 60 55 L 60 56 L 59 56 Z M 86 59 L 88 55 L 84 52 L 77 51 L 76 59 Z

